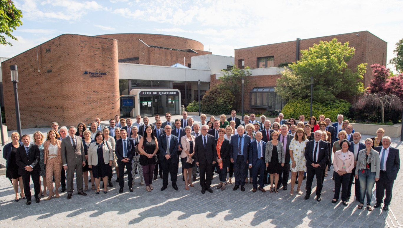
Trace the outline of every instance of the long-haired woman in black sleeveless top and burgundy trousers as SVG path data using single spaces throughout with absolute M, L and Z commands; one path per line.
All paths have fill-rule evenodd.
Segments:
M 145 127 L 144 136 L 140 139 L 138 149 L 140 152 L 139 162 L 143 167 L 145 190 L 151 191 L 154 189 L 151 184 L 156 164 L 155 154 L 158 151 L 158 142 L 150 125 Z

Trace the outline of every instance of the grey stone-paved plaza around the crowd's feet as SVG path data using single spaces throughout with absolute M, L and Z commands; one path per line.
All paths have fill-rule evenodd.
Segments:
M 179 116 L 174 116 L 179 117 Z M 172 119 L 174 119 L 172 117 Z M 199 121 L 199 117 L 195 117 Z M 102 121 L 108 125 L 108 121 Z M 153 123 L 154 120 L 151 120 Z M 48 129 L 25 129 L 23 133 L 32 134 L 33 131 L 42 132 Z M 10 136 L 10 132 L 8 136 Z M 386 132 L 387 135 L 387 132 Z M 365 140 L 370 136 L 362 136 Z M 373 137 L 373 136 L 371 136 Z M 11 142 L 11 141 L 9 141 Z M 392 145 L 403 151 L 402 142 L 393 139 Z M 0 146 L 2 149 L 2 146 Z M 403 160 L 401 158 L 401 160 Z M 5 163 L 0 159 L 0 163 Z M 180 171 L 180 169 L 179 169 Z M 374 208 L 372 212 L 357 209 L 358 202 L 353 201 L 354 190 L 351 191 L 351 199 L 347 207 L 341 201 L 336 204 L 330 201 L 333 198 L 334 182 L 332 172 L 323 183 L 322 201 L 317 202 L 312 189 L 311 198 L 304 200 L 302 195 L 289 196 L 288 190 L 279 189 L 279 193 L 269 193 L 270 185 L 266 185 L 266 193 L 251 191 L 252 186 L 245 185 L 246 191 L 241 189 L 233 191 L 233 185 L 227 185 L 224 191 L 216 189 L 218 175 L 214 175 L 212 189 L 214 193 L 200 192 L 199 178 L 194 182 L 195 187 L 185 190 L 185 182 L 181 175 L 177 185 L 179 191 L 175 191 L 170 182 L 168 188 L 160 191 L 162 180 L 153 181 L 154 190 L 145 191 L 145 186 L 140 185 L 138 175 L 133 186 L 134 192 L 129 192 L 127 187 L 127 175 L 125 175 L 125 189 L 119 194 L 118 183 L 114 174 L 112 182 L 114 187 L 109 188 L 108 193 L 96 195 L 94 191 L 87 191 L 87 196 L 73 193 L 73 197 L 67 200 L 67 193 L 61 193 L 60 198 L 52 198 L 40 203 L 32 202 L 25 205 L 26 200 L 19 202 L 14 200 L 14 191 L 10 181 L 5 175 L 0 176 L 0 224 L 1 227 L 400 227 L 403 224 L 403 172 L 399 172 L 393 187 L 393 199 L 388 212 Z M 228 177 L 228 176 L 227 176 Z M 290 175 L 291 177 L 291 175 Z M 31 181 L 32 183 L 32 181 Z M 301 190 L 305 188 L 305 180 Z M 316 186 L 314 180 L 313 186 Z M 89 184 L 91 188 L 91 184 Z M 297 186 L 295 185 L 295 190 Z M 354 187 L 353 187 L 354 188 Z M 75 187 L 76 189 L 76 187 Z M 101 189 L 102 190 L 102 189 Z M 31 184 L 33 193 L 33 185 Z M 375 192 L 374 192 L 375 195 Z M 375 198 L 372 198 L 372 205 Z

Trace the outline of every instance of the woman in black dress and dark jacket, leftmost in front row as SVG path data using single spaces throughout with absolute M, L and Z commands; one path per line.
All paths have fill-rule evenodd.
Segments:
M 11 133 L 12 142 L 3 148 L 3 158 L 6 159 L 6 177 L 11 180 L 16 202 L 20 200 L 18 196 L 18 182 L 20 184 L 21 197 L 25 198 L 23 178 L 18 174 L 18 165 L 15 163 L 15 153 L 17 152 L 17 148 L 23 144 L 18 141 L 19 139 L 20 135 L 18 132 Z

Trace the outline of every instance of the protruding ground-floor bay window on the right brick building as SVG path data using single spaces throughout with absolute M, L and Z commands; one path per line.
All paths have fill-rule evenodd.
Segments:
M 256 87 L 250 92 L 250 107 L 266 109 L 268 111 L 280 111 L 287 103 L 274 92 L 273 87 Z

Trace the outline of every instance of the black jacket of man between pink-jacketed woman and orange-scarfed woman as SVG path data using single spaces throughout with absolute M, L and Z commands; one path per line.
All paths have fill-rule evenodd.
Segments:
M 217 148 L 214 136 L 207 134 L 207 144 L 204 146 L 203 135 L 195 139 L 195 162 L 199 164 L 213 164 L 217 161 Z

